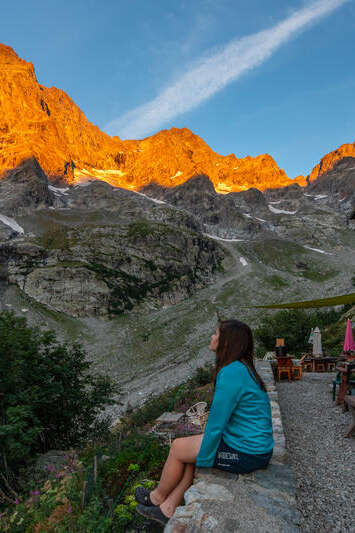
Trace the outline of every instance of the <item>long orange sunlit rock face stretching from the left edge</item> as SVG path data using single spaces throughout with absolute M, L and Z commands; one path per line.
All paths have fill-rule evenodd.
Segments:
M 94 177 L 134 190 L 152 181 L 176 186 L 196 174 L 207 174 L 220 193 L 293 183 L 270 155 L 221 156 L 186 128 L 141 141 L 110 137 L 65 92 L 40 85 L 32 63 L 0 44 L 0 174 L 30 156 L 50 179 Z

